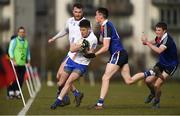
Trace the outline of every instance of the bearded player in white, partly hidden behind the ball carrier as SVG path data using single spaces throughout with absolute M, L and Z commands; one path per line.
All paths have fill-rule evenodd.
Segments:
M 76 3 L 73 5 L 73 17 L 69 18 L 66 22 L 66 26 L 63 30 L 61 30 L 57 35 L 55 35 L 53 38 L 50 38 L 48 40 L 49 43 L 55 41 L 58 38 L 62 38 L 63 36 L 67 35 L 69 36 L 69 43 L 73 43 L 75 38 L 81 38 L 81 33 L 80 33 L 80 28 L 79 28 L 79 22 L 83 19 L 85 19 L 83 17 L 83 6 L 79 3 Z M 59 70 L 57 72 L 57 80 L 58 80 L 58 92 L 57 94 L 60 93 L 61 89 L 63 88 L 63 84 L 61 84 L 60 82 L 60 78 L 62 75 L 62 72 L 64 71 L 64 65 L 69 57 L 70 54 L 74 54 L 71 53 L 70 51 L 68 52 L 68 55 L 65 57 L 64 61 L 61 63 Z M 61 86 L 60 86 L 61 85 Z M 79 92 L 74 85 L 72 85 L 71 87 L 71 91 L 73 92 L 74 96 L 75 96 L 75 101 L 76 101 L 76 105 L 79 104 L 76 98 L 76 94 L 80 94 L 81 95 L 81 99 L 83 98 L 83 93 Z M 68 105 L 70 104 L 70 100 L 69 97 L 66 95 L 64 97 L 64 104 L 63 105 Z

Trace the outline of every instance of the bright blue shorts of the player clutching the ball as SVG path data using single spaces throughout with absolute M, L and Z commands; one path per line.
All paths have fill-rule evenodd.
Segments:
M 65 66 L 64 71 L 67 73 L 77 72 L 80 75 L 83 75 L 87 71 L 88 66 L 82 65 L 74 62 L 71 58 L 68 58 Z

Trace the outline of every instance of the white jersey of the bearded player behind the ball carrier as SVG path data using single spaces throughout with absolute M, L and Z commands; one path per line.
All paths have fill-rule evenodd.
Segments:
M 81 19 L 85 19 L 84 17 Z M 76 21 L 74 17 L 71 17 L 67 20 L 66 22 L 66 29 L 69 33 L 69 43 L 74 43 L 74 40 L 76 38 L 81 38 L 81 32 L 80 32 L 80 27 L 79 27 L 79 22 L 81 21 Z M 74 54 L 71 51 L 68 52 L 68 55 Z

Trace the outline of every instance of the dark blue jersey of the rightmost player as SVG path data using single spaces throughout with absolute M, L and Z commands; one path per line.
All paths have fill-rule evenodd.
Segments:
M 177 48 L 173 38 L 165 33 L 163 37 L 158 40 L 156 37 L 156 46 L 159 47 L 163 45 L 166 49 L 159 55 L 159 62 L 164 66 L 177 66 L 178 65 L 178 56 Z

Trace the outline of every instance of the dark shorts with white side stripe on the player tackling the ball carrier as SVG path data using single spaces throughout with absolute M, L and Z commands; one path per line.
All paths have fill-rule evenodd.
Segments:
M 115 52 L 109 59 L 110 64 L 119 65 L 121 68 L 128 63 L 128 54 L 125 50 Z

